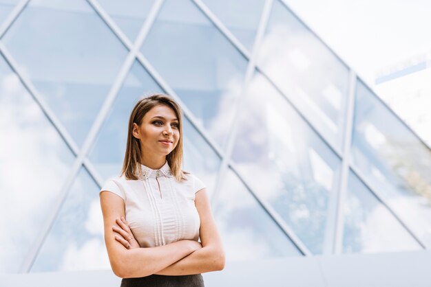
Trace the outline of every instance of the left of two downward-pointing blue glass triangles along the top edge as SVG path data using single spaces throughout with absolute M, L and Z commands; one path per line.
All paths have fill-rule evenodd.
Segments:
M 127 35 L 135 40 L 140 28 L 147 19 L 149 10 L 154 0 L 97 0 L 101 3 L 103 9 L 112 17 L 118 27 Z

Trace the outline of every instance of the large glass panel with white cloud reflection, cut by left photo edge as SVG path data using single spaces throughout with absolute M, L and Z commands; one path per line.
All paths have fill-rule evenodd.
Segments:
M 0 273 L 17 273 L 74 156 L 0 56 Z

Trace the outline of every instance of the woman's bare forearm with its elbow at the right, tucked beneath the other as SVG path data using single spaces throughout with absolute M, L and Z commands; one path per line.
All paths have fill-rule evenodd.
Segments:
M 158 275 L 191 275 L 224 268 L 224 253 L 213 246 L 205 246 L 182 258 L 178 262 L 156 272 Z

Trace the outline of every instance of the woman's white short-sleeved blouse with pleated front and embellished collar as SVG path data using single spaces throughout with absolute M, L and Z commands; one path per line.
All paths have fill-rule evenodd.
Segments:
M 141 247 L 154 247 L 199 238 L 200 218 L 195 194 L 204 184 L 193 174 L 178 182 L 168 163 L 160 170 L 141 165 L 139 180 L 109 179 L 101 192 L 112 192 L 125 202 L 126 220 Z

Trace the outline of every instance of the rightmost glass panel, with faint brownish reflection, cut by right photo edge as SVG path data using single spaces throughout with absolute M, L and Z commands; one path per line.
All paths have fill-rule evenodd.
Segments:
M 370 186 L 431 247 L 431 151 L 362 82 L 352 157 Z

